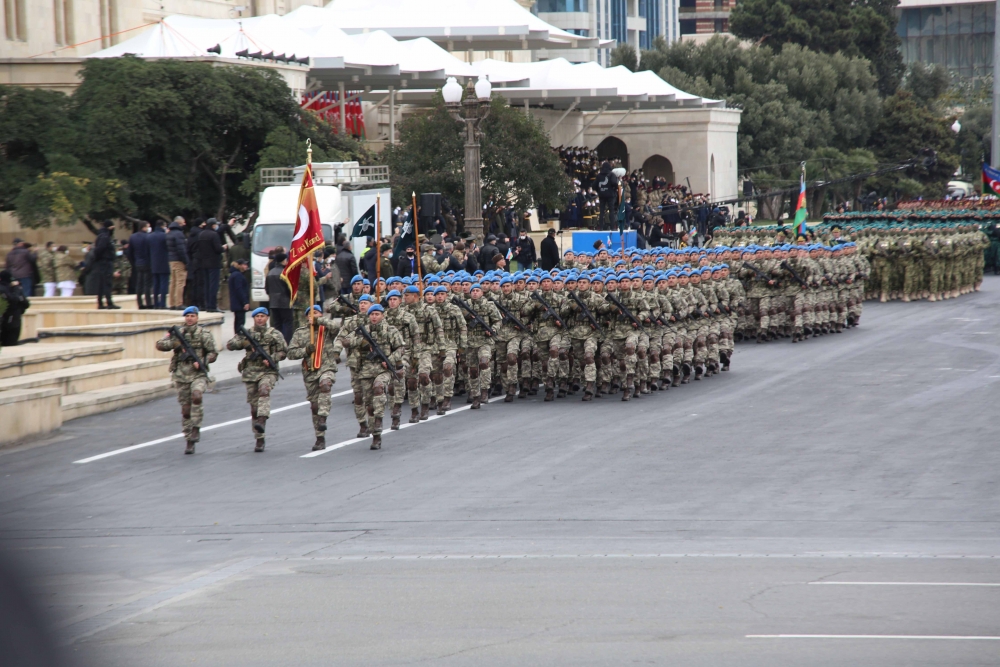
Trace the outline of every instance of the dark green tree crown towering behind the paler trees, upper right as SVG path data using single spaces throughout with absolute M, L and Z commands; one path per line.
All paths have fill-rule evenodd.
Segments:
M 903 60 L 896 34 L 897 0 L 741 0 L 729 30 L 757 44 L 798 44 L 812 51 L 867 59 L 883 95 L 896 91 Z

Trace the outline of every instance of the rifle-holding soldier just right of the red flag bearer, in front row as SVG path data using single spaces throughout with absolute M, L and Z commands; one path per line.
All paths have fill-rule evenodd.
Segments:
M 404 373 L 403 336 L 391 324 L 385 322 L 384 309 L 379 304 L 368 308 L 368 323 L 357 322 L 355 330 L 349 334 L 348 345 L 352 352 L 360 355 L 361 365 L 358 379 L 361 381 L 365 413 L 368 416 L 368 430 L 372 434 L 372 449 L 382 448 L 382 416 L 385 414 L 386 396 L 389 392 L 391 376 Z M 364 326 L 389 363 L 375 355 L 374 349 L 365 340 L 360 329 Z

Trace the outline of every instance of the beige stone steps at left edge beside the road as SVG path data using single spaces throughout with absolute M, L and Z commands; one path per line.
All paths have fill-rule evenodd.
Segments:
M 115 342 L 0 350 L 0 443 L 170 393 L 169 358 L 135 359 Z

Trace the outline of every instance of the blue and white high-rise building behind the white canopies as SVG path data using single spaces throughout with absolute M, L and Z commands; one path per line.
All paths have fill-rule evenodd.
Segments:
M 680 38 L 679 0 L 537 0 L 532 11 L 552 25 L 577 35 L 648 49 L 657 37 L 668 43 Z M 548 51 L 542 58 L 562 57 L 607 65 L 611 49 Z

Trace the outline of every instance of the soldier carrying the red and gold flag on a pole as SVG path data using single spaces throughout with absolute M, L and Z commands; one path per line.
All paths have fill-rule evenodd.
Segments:
M 299 327 L 288 344 L 288 358 L 302 360 L 302 382 L 306 386 L 306 397 L 312 408 L 313 431 L 316 443 L 313 451 L 326 449 L 326 418 L 330 416 L 330 392 L 337 381 L 337 364 L 340 350 L 337 349 L 337 335 L 343 324 L 342 319 L 322 317 L 319 306 L 306 310 L 306 324 Z M 310 326 L 311 325 L 311 326 Z M 322 338 L 322 340 L 319 340 Z M 322 346 L 319 365 L 315 364 L 317 345 Z

